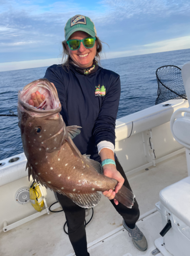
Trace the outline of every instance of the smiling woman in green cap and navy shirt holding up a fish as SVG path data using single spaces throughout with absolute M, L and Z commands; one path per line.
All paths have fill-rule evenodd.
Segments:
M 118 213 L 123 217 L 124 228 L 130 233 L 139 250 L 147 249 L 145 236 L 135 225 L 139 209 L 135 200 L 132 209 L 118 203 L 115 193 L 124 184 L 130 190 L 124 171 L 114 154 L 115 120 L 120 100 L 120 76 L 97 65 L 102 45 L 90 18 L 76 15 L 65 25 L 63 53 L 68 58 L 63 65 L 50 66 L 45 74 L 58 92 L 62 105 L 61 115 L 66 125 L 82 126 L 73 139 L 82 154 L 99 161 L 103 174 L 118 181 L 115 191 L 104 191 Z M 32 93 L 30 104 L 38 106 L 44 100 L 39 92 Z M 57 194 L 65 212 L 69 239 L 76 256 L 87 256 L 85 209 L 68 197 Z

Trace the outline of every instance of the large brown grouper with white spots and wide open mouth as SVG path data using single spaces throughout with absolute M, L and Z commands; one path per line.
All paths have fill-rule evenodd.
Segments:
M 38 107 L 28 104 L 31 93 L 45 96 Z M 61 104 L 47 79 L 39 79 L 18 92 L 18 126 L 27 157 L 28 177 L 66 195 L 75 204 L 91 208 L 100 201 L 97 191 L 114 190 L 118 181 L 102 174 L 100 163 L 82 155 L 72 139 L 80 133 L 79 126 L 66 126 L 60 115 Z M 132 208 L 134 194 L 124 185 L 115 199 Z

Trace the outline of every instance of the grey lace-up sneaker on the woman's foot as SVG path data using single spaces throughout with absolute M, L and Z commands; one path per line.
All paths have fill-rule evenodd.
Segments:
M 129 232 L 129 236 L 132 238 L 132 242 L 134 243 L 134 246 L 140 251 L 144 252 L 148 248 L 148 243 L 146 241 L 145 236 L 138 228 L 138 226 L 135 225 L 134 229 L 130 229 L 128 228 L 124 220 L 122 224 L 124 228 Z

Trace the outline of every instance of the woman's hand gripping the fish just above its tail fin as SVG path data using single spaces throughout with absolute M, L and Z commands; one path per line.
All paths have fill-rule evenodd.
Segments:
M 109 190 L 109 191 L 104 191 L 102 194 L 107 197 L 108 199 L 114 199 L 115 194 L 120 190 L 124 183 L 124 178 L 120 174 L 120 172 L 117 171 L 116 167 L 114 164 L 106 164 L 103 166 L 103 174 L 109 178 L 113 178 L 118 181 L 118 184 L 115 187 L 115 190 Z M 114 199 L 114 203 L 118 205 L 118 201 Z

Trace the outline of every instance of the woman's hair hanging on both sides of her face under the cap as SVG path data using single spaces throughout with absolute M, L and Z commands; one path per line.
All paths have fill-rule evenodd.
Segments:
M 96 37 L 96 41 L 97 41 L 97 47 L 96 47 L 96 56 L 95 56 L 95 61 L 97 61 L 100 65 L 100 53 L 103 49 L 102 43 L 99 39 L 99 37 Z M 64 68 L 64 66 L 66 66 L 67 68 L 69 68 L 69 61 L 71 60 L 70 56 L 69 56 L 69 51 L 67 50 L 67 42 L 66 40 L 64 40 L 62 42 L 62 46 L 63 46 L 63 57 L 62 57 L 62 62 L 63 59 L 66 58 L 66 60 L 63 62 L 62 66 Z M 67 57 L 66 57 L 67 56 Z

